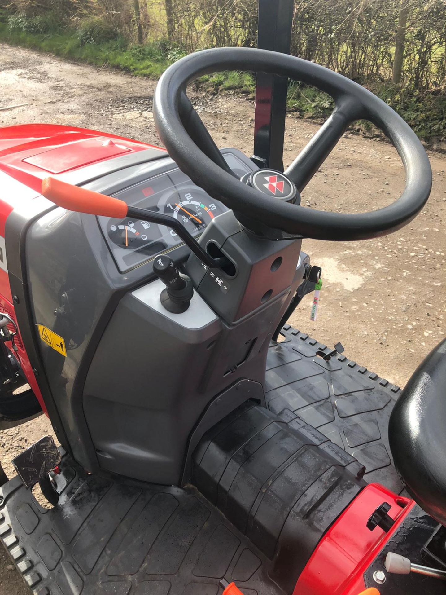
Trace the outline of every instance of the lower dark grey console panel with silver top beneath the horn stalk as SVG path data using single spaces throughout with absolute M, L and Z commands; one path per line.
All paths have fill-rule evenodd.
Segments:
M 193 444 L 205 431 L 246 400 L 265 402 L 271 333 L 302 276 L 303 265 L 277 296 L 235 325 L 197 292 L 187 312 L 165 311 L 158 280 L 125 295 L 84 387 L 100 466 L 153 483 L 185 483 Z

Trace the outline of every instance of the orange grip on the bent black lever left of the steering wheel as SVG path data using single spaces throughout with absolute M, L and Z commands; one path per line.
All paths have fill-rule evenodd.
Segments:
M 93 190 L 73 186 L 73 184 L 56 180 L 51 176 L 42 180 L 42 195 L 68 211 L 103 215 L 116 219 L 123 219 L 127 215 L 128 206 L 124 201 L 93 192 Z

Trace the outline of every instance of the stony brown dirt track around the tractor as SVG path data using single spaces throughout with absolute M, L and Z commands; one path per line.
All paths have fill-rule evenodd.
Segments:
M 32 51 L 0 45 L 0 126 L 48 122 L 106 130 L 159 144 L 152 118 L 155 83 Z M 197 96 L 195 104 L 219 146 L 252 153 L 253 103 L 243 98 Z M 318 126 L 287 118 L 285 162 Z M 1 134 L 1 131 L 0 131 Z M 310 299 L 290 321 L 327 345 L 339 340 L 346 354 L 404 386 L 413 369 L 445 334 L 446 157 L 429 155 L 434 187 L 422 214 L 379 240 L 335 243 L 305 240 L 303 249 L 322 266 L 316 322 Z M 304 205 L 360 212 L 393 201 L 404 170 L 392 146 L 347 134 L 302 196 Z M 0 459 L 11 459 L 51 431 L 46 418 L 0 435 Z M 0 595 L 27 591 L 0 549 Z

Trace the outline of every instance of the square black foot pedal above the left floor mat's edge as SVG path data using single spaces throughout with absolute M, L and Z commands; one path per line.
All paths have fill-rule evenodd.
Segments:
M 52 437 L 44 436 L 12 459 L 12 465 L 28 490 L 39 483 L 43 496 L 49 503 L 55 505 L 59 496 L 52 486 L 49 472 L 57 468 L 61 458 L 61 453 Z

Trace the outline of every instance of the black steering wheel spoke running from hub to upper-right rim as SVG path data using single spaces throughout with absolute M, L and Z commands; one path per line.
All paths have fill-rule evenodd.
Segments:
M 357 101 L 348 97 L 338 99 L 330 117 L 285 170 L 285 176 L 293 180 L 299 192 L 321 167 L 348 126 L 361 117 L 363 111 Z

